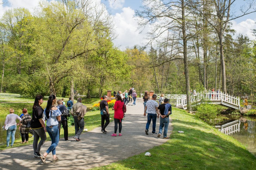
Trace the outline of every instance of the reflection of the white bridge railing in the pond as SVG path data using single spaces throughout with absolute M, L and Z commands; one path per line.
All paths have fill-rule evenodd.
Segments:
M 231 121 L 223 125 L 216 125 L 216 128 L 224 134 L 233 134 L 240 131 L 240 120 Z

